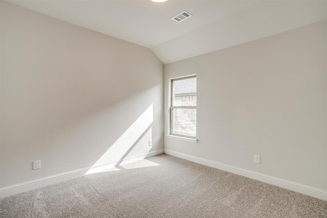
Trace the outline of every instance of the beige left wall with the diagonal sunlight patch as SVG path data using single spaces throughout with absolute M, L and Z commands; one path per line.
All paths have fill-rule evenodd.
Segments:
M 1 1 L 1 187 L 162 149 L 163 69 L 145 47 Z

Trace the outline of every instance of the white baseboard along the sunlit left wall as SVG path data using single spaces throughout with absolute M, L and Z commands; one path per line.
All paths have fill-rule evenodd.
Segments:
M 39 187 L 42 187 L 45 185 L 50 185 L 50 184 L 53 184 L 56 182 L 61 182 L 61 181 L 67 180 L 67 179 L 72 179 L 72 178 L 76 178 L 79 176 L 83 176 L 83 175 L 87 174 L 87 172 L 90 169 L 115 166 L 118 163 L 122 164 L 122 163 L 134 162 L 137 160 L 142 160 L 147 157 L 153 157 L 153 156 L 156 156 L 159 154 L 164 154 L 164 149 L 151 151 L 146 154 L 128 157 L 128 158 L 112 161 L 112 162 L 105 163 L 105 164 L 76 169 L 75 171 L 70 171 L 70 172 L 66 172 L 66 173 L 62 173 L 62 174 L 57 174 L 54 176 L 44 177 L 44 178 L 40 178 L 40 179 L 36 179 L 36 180 L 24 182 L 24 183 L 19 183 L 16 185 L 3 187 L 3 188 L 0 188 L 0 198 L 14 195 L 16 193 L 28 191 L 28 190 L 31 190 L 34 188 L 39 188 Z

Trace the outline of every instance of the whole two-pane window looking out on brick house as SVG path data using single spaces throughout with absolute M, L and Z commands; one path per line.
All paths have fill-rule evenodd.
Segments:
M 196 138 L 196 97 L 196 76 L 171 80 L 171 135 Z

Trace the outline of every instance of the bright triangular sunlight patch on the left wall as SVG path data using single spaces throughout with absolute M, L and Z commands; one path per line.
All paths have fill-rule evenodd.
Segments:
M 152 141 L 152 122 L 153 105 L 151 104 L 111 146 L 108 145 L 108 150 L 89 172 L 96 171 L 94 167 L 97 166 L 104 167 L 104 165 L 112 165 L 113 162 L 119 165 L 131 156 L 147 154 L 152 148 L 149 146 L 149 140 Z

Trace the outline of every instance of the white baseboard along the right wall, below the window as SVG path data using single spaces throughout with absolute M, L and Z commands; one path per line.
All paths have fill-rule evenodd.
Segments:
M 308 185 L 303 185 L 303 184 L 288 181 L 285 179 L 279 179 L 279 178 L 268 176 L 265 174 L 256 173 L 253 171 L 248 171 L 247 169 L 242 169 L 239 167 L 230 166 L 227 164 L 195 157 L 192 155 L 183 154 L 183 153 L 172 151 L 169 149 L 164 149 L 164 150 L 165 150 L 165 154 L 169 154 L 169 155 L 172 155 L 172 156 L 175 156 L 178 158 L 182 158 L 185 160 L 190 160 L 192 162 L 200 163 L 200 164 L 203 164 L 206 166 L 211 166 L 211 167 L 214 167 L 217 169 L 222 169 L 223 171 L 227 171 L 227 172 L 238 174 L 238 175 L 248 177 L 251 179 L 259 180 L 259 181 L 262 181 L 262 182 L 265 182 L 268 184 L 276 185 L 278 187 L 286 188 L 286 189 L 289 189 L 292 191 L 302 193 L 304 195 L 308 195 L 308 196 L 311 196 L 314 198 L 318 198 L 318 199 L 327 201 L 327 191 L 326 190 L 314 188 L 314 187 L 311 187 Z

